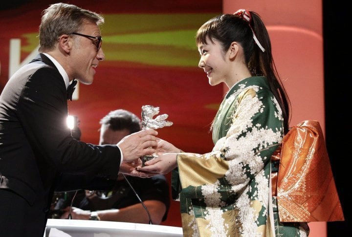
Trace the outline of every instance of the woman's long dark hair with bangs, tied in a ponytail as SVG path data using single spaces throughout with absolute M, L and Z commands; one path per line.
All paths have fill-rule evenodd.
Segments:
M 271 54 L 269 34 L 260 16 L 250 11 L 251 20 L 246 21 L 242 16 L 223 14 L 205 22 L 196 34 L 196 43 L 207 43 L 209 39 L 219 41 L 224 51 L 227 51 L 232 42 L 242 45 L 245 62 L 252 76 L 267 78 L 270 89 L 278 101 L 284 117 L 284 133 L 288 132 L 290 119 L 290 102 L 286 90 Z M 253 30 L 252 30 L 253 29 Z M 254 33 L 255 32 L 255 33 Z M 254 35 L 265 49 L 263 52 L 254 40 Z

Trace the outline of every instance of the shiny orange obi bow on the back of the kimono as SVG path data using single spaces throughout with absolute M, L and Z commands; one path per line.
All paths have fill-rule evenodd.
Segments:
M 318 121 L 306 120 L 284 136 L 271 160 L 280 159 L 272 173 L 281 222 L 344 220 L 332 175 L 324 135 Z

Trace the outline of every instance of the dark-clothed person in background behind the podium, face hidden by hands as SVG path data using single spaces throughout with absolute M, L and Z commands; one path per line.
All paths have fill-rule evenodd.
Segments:
M 130 111 L 110 111 L 100 121 L 99 145 L 117 144 L 123 137 L 141 129 L 140 119 Z M 126 168 L 128 169 L 128 168 Z M 164 175 L 151 178 L 125 176 L 121 167 L 117 182 L 109 191 L 80 192 L 73 200 L 72 219 L 106 220 L 144 224 L 160 224 L 166 220 L 170 207 L 169 185 Z M 143 201 L 139 201 L 131 186 Z M 89 210 L 89 211 L 86 211 Z M 69 206 L 61 215 L 69 215 Z M 151 218 L 151 219 L 150 219 Z

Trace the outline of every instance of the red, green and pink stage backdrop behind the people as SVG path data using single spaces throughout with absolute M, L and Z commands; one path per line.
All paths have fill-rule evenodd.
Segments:
M 36 54 L 41 12 L 55 2 L 15 0 L 1 4 L 0 90 L 12 72 Z M 325 128 L 321 1 L 63 2 L 101 13 L 106 21 L 101 28 L 105 61 L 97 67 L 93 84 L 79 84 L 74 101 L 68 103 L 69 113 L 80 121 L 85 142 L 98 143 L 99 120 L 110 110 L 124 108 L 140 115 L 143 105 L 153 105 L 174 122 L 159 129 L 159 137 L 184 151 L 211 151 L 209 128 L 226 89 L 210 86 L 198 68 L 194 37 L 211 17 L 239 8 L 254 10 L 264 19 L 278 71 L 291 98 L 291 125 L 313 119 Z M 20 43 L 11 44 L 13 39 Z M 162 224 L 181 226 L 178 202 L 172 201 Z M 310 225 L 310 236 L 326 236 L 324 222 Z

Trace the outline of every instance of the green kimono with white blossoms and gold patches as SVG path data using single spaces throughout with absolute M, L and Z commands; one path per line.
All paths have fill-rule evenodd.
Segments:
M 213 151 L 177 155 L 173 196 L 185 237 L 264 237 L 275 229 L 281 236 L 269 181 L 270 156 L 283 136 L 282 111 L 266 78 L 243 79 L 228 91 L 214 121 Z M 306 236 L 290 229 L 290 237 Z

